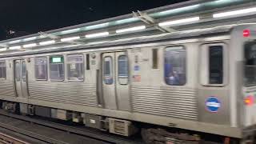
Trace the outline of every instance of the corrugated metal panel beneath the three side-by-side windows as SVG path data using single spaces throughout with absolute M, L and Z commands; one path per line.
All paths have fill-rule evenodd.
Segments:
M 30 99 L 97 106 L 96 86 L 82 82 L 29 82 Z

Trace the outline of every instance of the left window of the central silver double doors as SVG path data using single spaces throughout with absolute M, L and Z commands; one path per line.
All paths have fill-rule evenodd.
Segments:
M 104 82 L 106 85 L 113 84 L 113 65 L 112 65 L 112 58 L 105 57 L 104 64 L 103 64 L 103 74 L 104 74 Z

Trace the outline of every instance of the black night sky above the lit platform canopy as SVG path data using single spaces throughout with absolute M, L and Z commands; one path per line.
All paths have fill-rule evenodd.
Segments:
M 6 31 L 34 34 L 186 0 L 1 0 L 0 40 Z M 19 35 L 20 36 L 20 35 Z

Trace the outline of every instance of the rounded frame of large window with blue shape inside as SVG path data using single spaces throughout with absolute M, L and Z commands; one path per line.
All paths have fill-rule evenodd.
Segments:
M 165 72 L 166 72 L 166 67 L 165 67 L 165 64 L 166 64 L 166 56 L 165 56 L 165 54 L 166 54 L 166 50 L 167 49 L 170 49 L 170 48 L 175 48 L 175 47 L 182 47 L 184 50 L 185 50 L 185 53 L 186 53 L 186 60 L 185 60 L 185 62 L 186 62 L 186 64 L 185 64 L 185 68 L 186 68 L 186 70 L 185 70 L 185 72 L 186 72 L 186 78 L 185 78 L 185 83 L 184 84 L 182 84 L 182 85 L 169 85 L 167 82 L 166 82 L 166 74 L 165 74 Z M 163 70 L 163 81 L 164 81 L 164 83 L 166 84 L 166 86 L 186 86 L 187 85 L 187 76 L 188 76 L 188 61 L 187 61 L 187 59 L 188 59 L 188 55 L 187 55 L 188 53 L 187 53 L 187 48 L 186 48 L 186 46 L 183 46 L 183 45 L 177 45 L 177 46 L 166 46 L 166 47 L 164 47 L 163 48 L 163 51 L 162 51 L 162 55 L 163 55 L 163 58 L 162 58 L 162 66 L 163 66 L 163 68 L 162 68 L 162 70 Z

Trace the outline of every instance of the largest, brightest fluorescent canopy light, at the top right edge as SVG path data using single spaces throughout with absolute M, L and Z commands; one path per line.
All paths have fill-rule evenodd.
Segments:
M 256 12 L 256 7 L 248 8 L 248 9 L 243 9 L 243 10 L 233 10 L 233 11 L 227 11 L 227 12 L 222 12 L 222 13 L 217 13 L 214 14 L 214 18 L 222 18 L 222 17 L 228 17 L 228 16 L 233 16 L 233 15 L 239 15 L 239 14 L 249 14 Z

